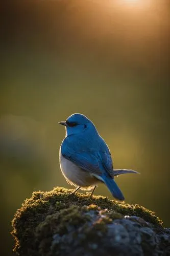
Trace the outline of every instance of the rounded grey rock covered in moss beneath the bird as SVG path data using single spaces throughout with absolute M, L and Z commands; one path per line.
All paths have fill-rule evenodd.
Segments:
M 154 212 L 57 187 L 34 192 L 12 221 L 20 256 L 170 255 L 170 230 Z

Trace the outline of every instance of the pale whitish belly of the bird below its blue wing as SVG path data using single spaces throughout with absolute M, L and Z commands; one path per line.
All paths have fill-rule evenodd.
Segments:
M 90 172 L 83 170 L 75 163 L 64 158 L 61 154 L 61 148 L 59 158 L 61 172 L 70 185 L 76 187 L 80 186 L 82 190 L 90 190 L 100 182 L 100 180 L 95 178 Z

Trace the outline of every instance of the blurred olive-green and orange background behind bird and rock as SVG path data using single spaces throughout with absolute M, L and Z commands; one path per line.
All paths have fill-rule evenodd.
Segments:
M 1 5 L 2 255 L 11 220 L 33 190 L 70 186 L 58 121 L 87 115 L 110 147 L 127 203 L 169 226 L 169 2 L 9 1 Z M 104 185 L 95 194 L 108 196 Z

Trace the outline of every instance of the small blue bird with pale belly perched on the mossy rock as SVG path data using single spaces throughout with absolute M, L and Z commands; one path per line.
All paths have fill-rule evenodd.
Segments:
M 90 190 L 103 182 L 112 196 L 123 201 L 124 195 L 114 181 L 114 176 L 138 173 L 135 170 L 113 169 L 111 154 L 95 125 L 82 114 L 73 114 L 59 122 L 66 127 L 66 136 L 60 146 L 60 168 L 66 181 L 76 190 Z

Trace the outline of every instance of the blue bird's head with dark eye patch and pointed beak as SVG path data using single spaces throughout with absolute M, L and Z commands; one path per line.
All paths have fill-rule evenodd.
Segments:
M 94 124 L 86 116 L 79 113 L 72 114 L 66 121 L 59 123 L 66 127 L 66 136 L 82 133 L 89 127 L 91 127 L 91 129 L 95 129 Z

